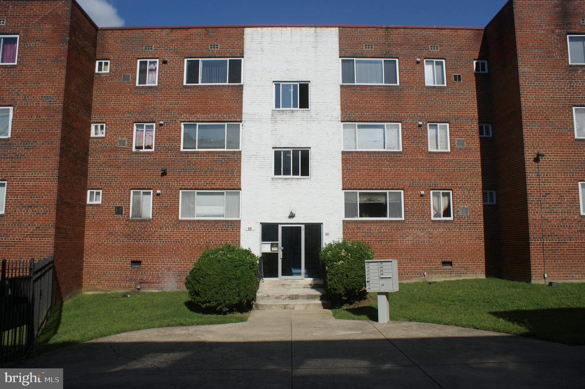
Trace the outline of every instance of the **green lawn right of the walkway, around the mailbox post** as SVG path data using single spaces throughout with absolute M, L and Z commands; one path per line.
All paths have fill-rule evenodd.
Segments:
M 390 319 L 456 325 L 585 345 L 585 283 L 552 288 L 487 278 L 401 283 L 390 293 Z M 361 304 L 333 309 L 337 319 L 377 321 L 376 294 Z

